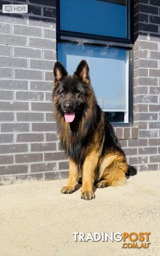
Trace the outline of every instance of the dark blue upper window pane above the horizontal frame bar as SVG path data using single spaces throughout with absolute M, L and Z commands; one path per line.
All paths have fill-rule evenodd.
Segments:
M 60 0 L 60 29 L 127 38 L 126 0 Z

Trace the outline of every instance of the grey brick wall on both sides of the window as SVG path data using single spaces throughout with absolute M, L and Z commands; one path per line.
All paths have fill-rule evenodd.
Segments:
M 55 0 L 0 1 L 1 9 L 9 3 L 27 3 L 29 13 L 0 13 L 0 185 L 66 178 L 51 102 Z M 138 171 L 160 162 L 159 8 L 159 0 L 134 1 L 134 123 L 115 129 Z

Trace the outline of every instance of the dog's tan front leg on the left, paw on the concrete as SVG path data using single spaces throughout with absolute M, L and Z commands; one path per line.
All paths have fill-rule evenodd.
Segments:
M 62 187 L 62 194 L 73 193 L 78 180 L 78 165 L 72 159 L 69 159 L 69 165 L 69 181 L 66 187 Z

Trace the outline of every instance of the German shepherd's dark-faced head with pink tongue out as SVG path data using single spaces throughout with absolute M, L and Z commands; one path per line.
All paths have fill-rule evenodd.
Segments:
M 57 61 L 54 66 L 53 100 L 56 111 L 65 117 L 65 122 L 73 122 L 76 115 L 80 116 L 87 105 L 87 97 L 91 86 L 89 67 L 82 60 L 74 75 L 68 75 L 62 63 Z

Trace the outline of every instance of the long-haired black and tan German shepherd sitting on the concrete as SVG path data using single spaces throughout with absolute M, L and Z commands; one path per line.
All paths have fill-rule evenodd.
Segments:
M 82 60 L 74 75 L 62 63 L 54 66 L 54 113 L 61 148 L 69 157 L 69 181 L 61 193 L 75 191 L 82 177 L 81 198 L 95 198 L 92 187 L 123 185 L 137 173 L 127 164 L 113 127 L 98 106 L 90 84 L 89 67 Z

